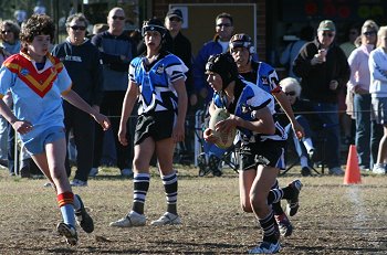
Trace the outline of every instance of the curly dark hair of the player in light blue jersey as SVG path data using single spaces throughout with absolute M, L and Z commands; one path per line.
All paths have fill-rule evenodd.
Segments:
M 54 39 L 55 24 L 46 14 L 33 14 L 21 29 L 20 41 L 22 51 L 27 50 L 28 43 L 31 43 L 36 35 L 50 35 L 51 42 Z

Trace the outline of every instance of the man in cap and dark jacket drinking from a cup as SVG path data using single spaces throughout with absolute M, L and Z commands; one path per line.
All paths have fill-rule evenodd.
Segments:
M 341 137 L 338 123 L 338 93 L 349 79 L 351 68 L 343 50 L 335 43 L 336 26 L 324 20 L 317 36 L 300 51 L 293 72 L 300 76 L 301 97 L 311 100 L 312 107 L 324 125 L 325 158 L 330 173 L 342 176 Z

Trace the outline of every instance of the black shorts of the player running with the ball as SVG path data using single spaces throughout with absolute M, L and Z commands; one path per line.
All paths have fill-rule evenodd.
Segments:
M 257 169 L 258 164 L 285 169 L 286 141 L 265 140 L 243 144 L 240 148 L 240 170 Z

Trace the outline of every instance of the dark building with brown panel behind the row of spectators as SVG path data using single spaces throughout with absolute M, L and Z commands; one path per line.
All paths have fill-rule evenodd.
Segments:
M 21 10 L 29 17 L 39 4 L 56 21 L 56 42 L 64 40 L 65 19 L 74 12 L 84 12 L 92 24 L 106 23 L 108 10 L 118 6 L 128 17 L 126 29 L 135 30 L 140 28 L 143 20 L 163 19 L 169 8 L 179 7 L 186 18 L 182 32 L 192 42 L 194 55 L 212 38 L 216 14 L 230 12 L 236 17 L 236 32 L 251 34 L 259 59 L 274 66 L 279 66 L 282 50 L 297 39 L 304 25 L 317 28 L 321 20 L 332 19 L 341 43 L 346 41 L 347 28 L 355 22 L 374 19 L 380 25 L 387 23 L 387 1 L 383 0 L 0 0 L 0 18 L 15 19 L 15 13 Z

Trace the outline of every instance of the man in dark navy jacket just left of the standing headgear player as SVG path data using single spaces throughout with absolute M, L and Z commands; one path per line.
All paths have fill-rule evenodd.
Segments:
M 137 49 L 135 42 L 124 31 L 125 26 L 125 11 L 122 8 L 113 8 L 107 15 L 108 30 L 98 33 L 92 38 L 92 43 L 100 50 L 103 62 L 103 92 L 104 97 L 101 103 L 101 113 L 112 118 L 112 131 L 118 132 L 119 118 L 125 91 L 128 83 L 128 67 L 130 61 L 136 56 Z M 130 124 L 128 123 L 128 127 Z M 91 176 L 98 173 L 101 158 L 103 152 L 104 134 L 100 127 L 95 128 L 95 144 L 93 168 L 90 171 Z M 130 146 L 124 147 L 118 141 L 117 137 L 113 136 L 113 141 L 117 167 L 121 176 L 132 177 L 130 169 L 133 151 Z

